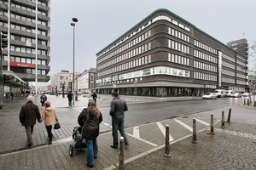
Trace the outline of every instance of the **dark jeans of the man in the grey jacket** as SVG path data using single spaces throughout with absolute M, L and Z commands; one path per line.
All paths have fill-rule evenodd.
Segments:
M 119 145 L 118 130 L 121 133 L 121 136 L 124 137 L 125 139 L 125 145 L 129 144 L 125 134 L 124 127 L 125 127 L 124 118 L 112 118 L 113 146 Z

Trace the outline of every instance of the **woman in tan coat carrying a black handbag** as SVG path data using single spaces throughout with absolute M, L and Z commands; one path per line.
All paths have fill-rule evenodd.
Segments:
M 48 133 L 48 144 L 52 144 L 52 126 L 58 121 L 58 116 L 54 107 L 51 107 L 50 101 L 45 101 L 45 107 L 43 109 L 40 122 L 44 121 L 47 133 Z

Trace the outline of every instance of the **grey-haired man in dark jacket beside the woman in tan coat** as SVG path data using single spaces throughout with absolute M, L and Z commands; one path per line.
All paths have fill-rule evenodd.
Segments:
M 37 118 L 38 122 L 41 119 L 38 105 L 34 105 L 32 100 L 32 95 L 27 96 L 26 105 L 23 105 L 20 109 L 20 123 L 25 127 L 28 147 L 32 147 L 32 133 Z

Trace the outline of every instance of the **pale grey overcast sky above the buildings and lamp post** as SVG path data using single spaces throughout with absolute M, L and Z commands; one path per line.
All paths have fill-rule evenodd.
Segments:
M 246 38 L 256 42 L 255 0 L 52 0 L 50 1 L 50 71 L 96 67 L 96 53 L 158 8 L 166 8 L 220 42 Z

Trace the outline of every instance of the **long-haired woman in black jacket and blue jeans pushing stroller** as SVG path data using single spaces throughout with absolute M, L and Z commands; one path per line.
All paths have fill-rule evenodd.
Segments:
M 82 139 L 85 139 L 87 145 L 86 165 L 87 167 L 93 167 L 94 159 L 98 156 L 97 137 L 100 133 L 102 113 L 96 107 L 94 100 L 90 100 L 88 105 L 86 119 L 82 128 Z

